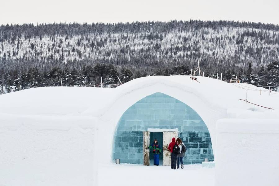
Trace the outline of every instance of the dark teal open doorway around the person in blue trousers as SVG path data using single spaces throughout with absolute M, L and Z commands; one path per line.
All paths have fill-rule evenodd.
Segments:
M 163 132 L 150 132 L 150 145 L 154 142 L 154 139 L 157 139 L 158 144 L 161 148 L 161 154 L 159 155 L 159 165 L 163 165 Z M 149 158 L 150 158 L 150 166 L 153 165 L 154 155 L 153 155 L 153 149 L 149 150 Z

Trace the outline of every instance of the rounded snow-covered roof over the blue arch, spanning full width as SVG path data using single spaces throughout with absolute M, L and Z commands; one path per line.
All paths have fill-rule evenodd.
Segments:
M 198 82 L 197 82 L 198 81 Z M 0 95 L 0 113 L 32 115 L 102 115 L 120 98 L 139 90 L 126 100 L 128 105 L 156 92 L 168 94 L 176 99 L 186 100 L 186 104 L 197 108 L 230 110 L 269 111 L 279 109 L 279 93 L 245 83 L 229 84 L 217 79 L 189 76 L 149 76 L 137 78 L 117 88 L 95 87 L 40 87 Z M 261 90 L 261 91 L 260 91 Z M 191 103 L 192 95 L 200 103 Z

